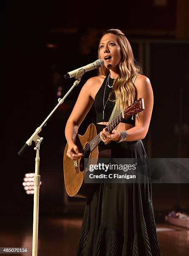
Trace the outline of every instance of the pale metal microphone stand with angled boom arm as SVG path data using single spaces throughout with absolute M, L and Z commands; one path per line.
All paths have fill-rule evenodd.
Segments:
M 79 84 L 81 81 L 82 75 L 85 73 L 84 69 L 79 69 L 78 73 L 76 74 L 76 81 L 73 83 L 73 86 L 68 90 L 66 95 L 61 99 L 58 99 L 58 104 L 55 108 L 50 112 L 48 117 L 43 121 L 43 123 L 35 130 L 32 136 L 26 141 L 25 145 L 20 149 L 18 155 L 20 156 L 23 154 L 23 151 L 31 145 L 32 141 L 35 142 L 35 150 L 36 150 L 36 157 L 35 157 L 35 175 L 34 175 L 34 200 L 33 200 L 33 243 L 32 243 L 32 256 L 38 255 L 38 215 L 39 215 L 39 186 L 40 186 L 40 175 L 39 175 L 39 149 L 40 143 L 43 141 L 43 137 L 39 137 L 38 133 L 42 130 L 43 126 L 47 123 L 48 119 L 53 115 L 55 110 L 64 102 L 66 97 L 70 94 L 73 88 Z

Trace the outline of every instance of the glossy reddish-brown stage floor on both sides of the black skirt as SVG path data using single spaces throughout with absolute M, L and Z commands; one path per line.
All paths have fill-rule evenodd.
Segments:
M 39 217 L 38 256 L 74 256 L 81 223 L 82 218 Z M 32 255 L 32 227 L 31 216 L 1 216 L 0 247 L 24 247 L 30 252 L 20 255 Z M 157 232 L 162 256 L 189 255 L 189 230 L 157 224 Z

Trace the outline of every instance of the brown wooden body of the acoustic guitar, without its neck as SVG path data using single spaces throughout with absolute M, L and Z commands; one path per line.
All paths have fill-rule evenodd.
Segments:
M 93 140 L 97 136 L 97 134 L 103 130 L 106 125 L 94 125 L 91 123 L 86 133 L 82 135 L 76 136 L 75 144 L 78 146 L 78 150 L 81 151 L 84 147 L 88 145 L 88 143 Z M 100 143 L 93 151 L 85 154 L 84 157 L 77 161 L 71 160 L 67 155 L 68 151 L 68 143 L 66 144 L 64 150 L 64 182 L 66 187 L 66 192 L 71 197 L 89 197 L 93 195 L 93 193 L 98 189 L 99 184 L 92 183 L 84 183 L 85 173 L 88 171 L 88 168 L 84 168 L 84 157 L 89 158 L 89 164 L 96 164 L 98 158 L 107 158 L 111 156 L 111 149 L 107 149 Z

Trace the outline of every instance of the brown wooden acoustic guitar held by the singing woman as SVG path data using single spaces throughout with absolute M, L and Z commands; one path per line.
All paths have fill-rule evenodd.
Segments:
M 106 131 L 111 133 L 114 128 L 124 119 L 131 115 L 139 113 L 144 110 L 144 99 L 139 98 L 131 106 L 122 111 L 119 115 L 114 118 L 111 123 L 106 127 Z M 98 158 L 110 158 L 111 151 L 101 142 L 100 132 L 103 130 L 103 125 L 91 123 L 86 133 L 82 135 L 77 135 L 75 139 L 75 144 L 78 146 L 80 153 L 83 156 L 79 160 L 71 160 L 67 155 L 68 143 L 66 144 L 64 150 L 63 159 L 63 169 L 64 169 L 64 182 L 66 187 L 66 192 L 71 197 L 89 197 L 93 195 L 97 189 L 98 184 L 84 183 L 84 177 L 88 171 L 88 166 L 90 164 L 96 164 Z M 84 166 L 84 159 L 88 158 L 88 166 Z M 96 160 L 97 159 L 97 160 Z

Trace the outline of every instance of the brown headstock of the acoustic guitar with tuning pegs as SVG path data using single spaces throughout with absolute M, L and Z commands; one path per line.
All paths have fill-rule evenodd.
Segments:
M 131 106 L 126 108 L 122 113 L 124 118 L 128 118 L 131 115 L 142 112 L 144 110 L 144 99 L 139 98 Z

